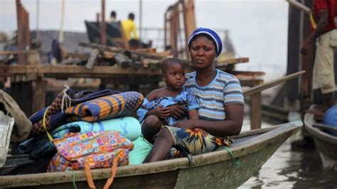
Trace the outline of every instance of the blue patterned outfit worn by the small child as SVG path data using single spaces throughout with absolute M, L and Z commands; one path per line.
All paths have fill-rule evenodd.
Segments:
M 149 102 L 149 100 L 145 98 L 143 104 L 141 104 L 141 107 L 137 110 L 137 115 L 139 117 L 138 120 L 140 123 L 144 121 L 147 112 L 149 112 L 149 110 L 151 109 L 156 109 L 157 107 L 159 107 L 159 105 L 162 105 L 163 107 L 169 107 L 174 104 L 181 104 L 185 106 L 188 111 L 192 109 L 199 109 L 199 104 L 196 100 L 196 96 L 194 96 L 191 90 L 186 90 L 185 87 L 183 87 L 181 93 L 179 93 L 176 97 L 160 97 L 158 99 L 152 100 L 151 102 Z M 183 117 L 182 119 L 186 118 L 187 115 L 185 115 L 185 117 Z M 178 120 L 174 119 L 173 117 L 166 117 L 165 121 L 167 124 L 173 125 Z

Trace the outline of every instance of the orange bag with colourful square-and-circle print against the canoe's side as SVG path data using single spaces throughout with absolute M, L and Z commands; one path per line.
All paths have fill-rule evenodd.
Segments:
M 128 154 L 133 148 L 132 141 L 118 131 L 70 134 L 54 144 L 58 153 L 50 161 L 48 172 L 83 169 L 85 162 L 90 168 L 109 168 L 114 158 L 118 159 L 118 166 L 124 166 L 129 163 Z

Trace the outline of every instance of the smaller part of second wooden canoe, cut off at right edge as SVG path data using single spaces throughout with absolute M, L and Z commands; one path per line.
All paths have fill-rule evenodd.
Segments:
M 323 168 L 337 169 L 337 136 L 324 132 L 331 126 L 326 126 L 314 119 L 314 114 L 306 113 L 304 125 L 309 134 L 314 138 L 316 148 L 319 150 Z M 331 128 L 333 129 L 333 128 Z

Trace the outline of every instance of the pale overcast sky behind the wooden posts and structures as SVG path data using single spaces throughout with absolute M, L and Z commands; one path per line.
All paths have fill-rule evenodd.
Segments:
M 37 28 L 37 1 L 21 0 L 29 12 L 30 27 Z M 176 1 L 143 0 L 142 26 L 162 28 L 164 12 Z M 94 21 L 100 12 L 100 0 L 65 0 L 65 31 L 85 32 L 85 20 Z M 287 66 L 287 32 L 289 5 L 283 0 L 204 0 L 195 1 L 197 26 L 230 31 L 237 57 L 248 57 L 250 63 L 237 65 L 237 70 L 264 71 L 265 80 L 281 77 Z M 40 0 L 38 28 L 60 29 L 60 0 Z M 106 18 L 111 10 L 117 18 L 136 14 L 139 25 L 139 0 L 106 0 Z M 0 31 L 16 30 L 14 0 L 0 1 Z

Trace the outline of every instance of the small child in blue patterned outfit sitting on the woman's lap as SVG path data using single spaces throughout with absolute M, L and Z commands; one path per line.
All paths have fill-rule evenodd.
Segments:
M 183 87 L 185 69 L 178 58 L 167 58 L 161 65 L 163 80 L 166 87 L 150 92 L 137 111 L 142 124 L 142 134 L 149 142 L 154 142 L 154 136 L 163 125 L 176 124 L 177 119 L 170 114 L 170 106 L 181 104 L 188 110 L 189 119 L 199 119 L 199 105 L 191 90 Z M 186 119 L 187 116 L 183 117 Z

